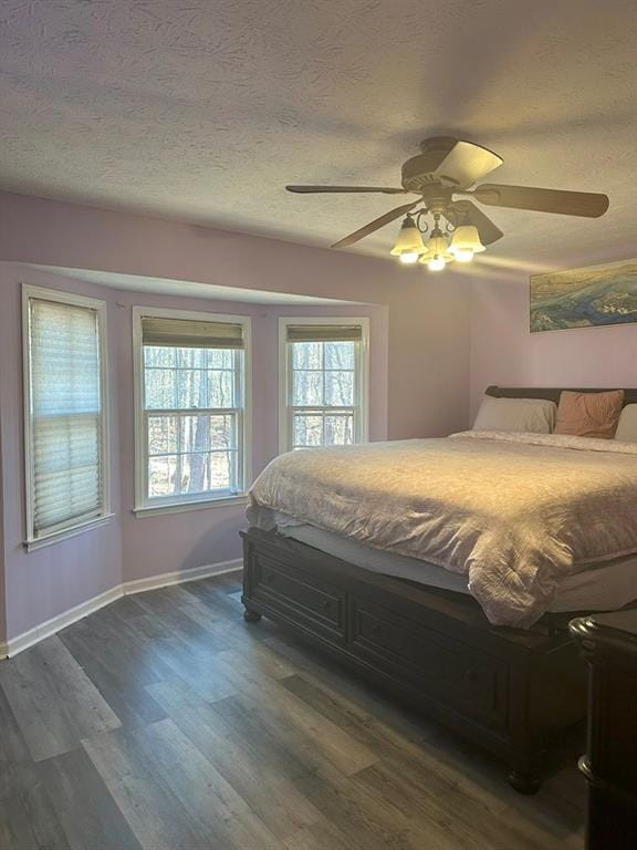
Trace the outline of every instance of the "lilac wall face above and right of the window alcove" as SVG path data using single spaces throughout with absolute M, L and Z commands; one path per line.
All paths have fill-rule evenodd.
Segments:
M 452 272 L 9 193 L 0 259 L 386 304 L 389 436 L 467 422 L 470 288 Z

